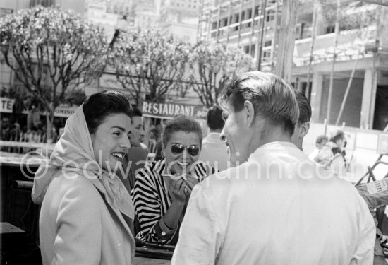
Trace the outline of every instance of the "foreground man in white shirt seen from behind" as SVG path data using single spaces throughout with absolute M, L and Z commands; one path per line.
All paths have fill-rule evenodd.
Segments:
M 219 103 L 237 166 L 195 186 L 171 264 L 372 264 L 365 201 L 291 143 L 291 86 L 244 73 Z

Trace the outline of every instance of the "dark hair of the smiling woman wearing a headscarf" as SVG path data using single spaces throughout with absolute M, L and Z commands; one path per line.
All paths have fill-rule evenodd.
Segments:
M 111 114 L 126 114 L 131 117 L 132 107 L 128 98 L 117 91 L 102 91 L 90 96 L 83 103 L 83 114 L 89 133 L 93 134 L 97 127 Z

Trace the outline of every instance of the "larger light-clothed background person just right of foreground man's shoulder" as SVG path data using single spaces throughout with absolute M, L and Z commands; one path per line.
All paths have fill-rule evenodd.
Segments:
M 320 164 L 331 167 L 338 175 L 346 175 L 346 159 L 343 153 L 346 136 L 344 131 L 335 130 L 331 132 L 329 141 L 321 148 L 317 155 Z

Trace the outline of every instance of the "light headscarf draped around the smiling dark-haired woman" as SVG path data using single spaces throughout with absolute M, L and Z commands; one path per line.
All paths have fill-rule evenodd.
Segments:
M 68 118 L 61 139 L 51 153 L 48 163 L 40 165 L 35 173 L 32 201 L 42 204 L 44 194 L 54 177 L 83 176 L 95 185 L 105 200 L 134 220 L 134 206 L 123 183 L 113 173 L 102 169 L 93 152 L 92 139 L 87 128 L 83 105 Z

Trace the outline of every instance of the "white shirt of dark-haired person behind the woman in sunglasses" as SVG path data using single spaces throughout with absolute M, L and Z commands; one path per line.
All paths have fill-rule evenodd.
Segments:
M 219 139 L 221 134 L 211 132 L 202 140 L 202 148 L 198 160 L 222 171 L 228 168 L 229 155 L 226 144 Z

